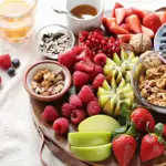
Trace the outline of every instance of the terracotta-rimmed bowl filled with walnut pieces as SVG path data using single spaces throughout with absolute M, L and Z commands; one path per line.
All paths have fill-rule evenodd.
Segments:
M 71 86 L 70 71 L 55 61 L 33 64 L 24 74 L 27 92 L 39 101 L 53 102 L 61 98 Z

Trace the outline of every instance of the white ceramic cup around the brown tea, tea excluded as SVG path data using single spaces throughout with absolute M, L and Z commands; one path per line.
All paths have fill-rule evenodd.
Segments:
M 80 4 L 90 4 L 97 9 L 97 14 L 90 19 L 77 19 L 71 14 L 66 15 L 68 27 L 72 32 L 77 35 L 80 31 L 98 28 L 102 24 L 104 14 L 104 2 L 103 0 L 68 0 L 66 11 L 71 10 Z

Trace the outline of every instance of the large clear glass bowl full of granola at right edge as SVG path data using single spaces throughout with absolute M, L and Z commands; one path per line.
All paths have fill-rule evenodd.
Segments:
M 166 114 L 166 60 L 163 53 L 148 51 L 142 54 L 132 71 L 131 81 L 139 102 Z

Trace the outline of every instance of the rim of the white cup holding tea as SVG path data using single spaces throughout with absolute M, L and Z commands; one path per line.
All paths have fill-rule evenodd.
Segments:
M 73 17 L 72 14 L 68 14 L 68 17 L 72 18 L 72 19 L 74 19 L 74 20 L 77 20 L 77 21 L 82 21 L 82 22 L 90 21 L 90 20 L 94 20 L 94 19 L 98 18 L 98 17 L 104 12 L 104 0 L 101 0 L 101 2 L 102 2 L 101 10 L 100 10 L 100 11 L 97 12 L 97 14 L 94 15 L 93 18 L 80 19 L 80 18 L 76 18 L 76 17 Z M 80 3 L 80 4 L 81 4 L 81 3 Z M 66 10 L 68 12 L 70 12 L 70 11 L 68 10 L 68 3 L 65 4 L 65 10 Z

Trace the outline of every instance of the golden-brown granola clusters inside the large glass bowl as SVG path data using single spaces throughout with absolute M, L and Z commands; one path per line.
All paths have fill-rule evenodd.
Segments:
M 166 64 L 148 69 L 142 74 L 138 87 L 149 103 L 166 106 Z

